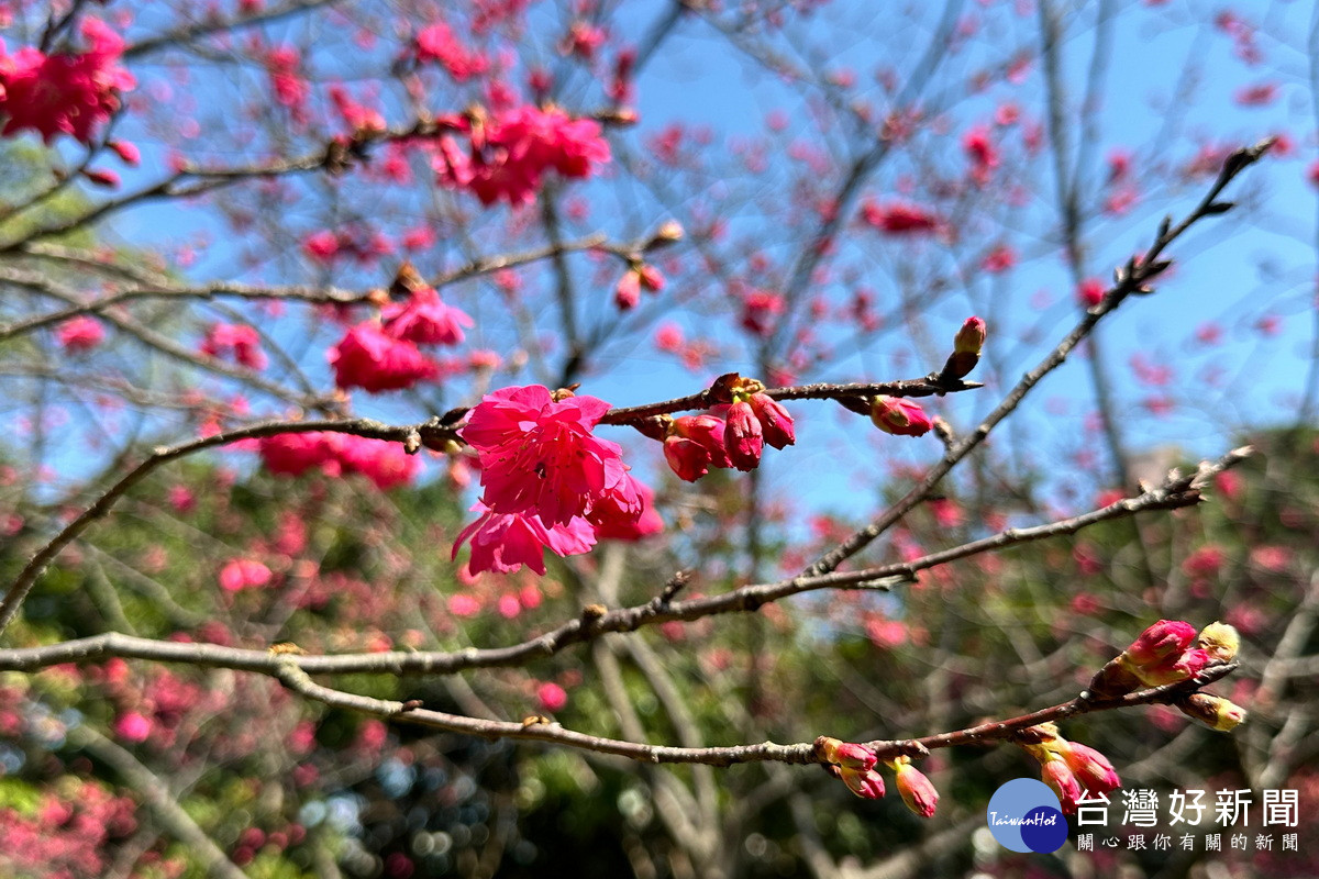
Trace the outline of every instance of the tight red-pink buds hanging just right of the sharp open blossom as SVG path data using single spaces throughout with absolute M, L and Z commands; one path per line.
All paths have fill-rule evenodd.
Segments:
M 663 455 L 678 478 L 695 482 L 710 468 L 737 468 L 748 472 L 760 464 L 769 443 L 783 448 L 797 441 L 793 416 L 764 393 L 754 378 L 729 383 L 732 402 L 711 415 L 683 415 L 667 422 Z

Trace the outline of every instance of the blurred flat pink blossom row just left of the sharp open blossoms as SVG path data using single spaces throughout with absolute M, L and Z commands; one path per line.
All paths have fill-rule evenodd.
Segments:
M 360 473 L 381 492 L 408 485 L 421 470 L 421 459 L 398 443 L 350 434 L 277 434 L 261 439 L 257 448 L 272 473 L 301 476 L 310 469 L 327 476 Z

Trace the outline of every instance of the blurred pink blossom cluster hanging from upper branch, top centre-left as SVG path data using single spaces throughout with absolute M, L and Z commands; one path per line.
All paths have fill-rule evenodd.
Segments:
M 530 204 L 549 171 L 588 178 L 611 158 L 599 123 L 572 119 L 555 107 L 514 107 L 483 123 L 450 121 L 467 136 L 467 149 L 454 136 L 441 137 L 433 158 L 435 174 L 441 183 L 466 188 L 485 206 L 499 200 Z

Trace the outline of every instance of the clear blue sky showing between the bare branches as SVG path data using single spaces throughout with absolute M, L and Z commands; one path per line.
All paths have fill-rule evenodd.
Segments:
M 628 30 L 640 40 L 660 16 L 662 5 L 629 4 L 616 29 Z M 1231 195 L 1250 206 L 1246 219 L 1207 223 L 1203 231 L 1178 242 L 1171 252 L 1171 256 L 1179 257 L 1178 266 L 1158 294 L 1132 300 L 1104 329 L 1107 360 L 1117 385 L 1119 412 L 1130 426 L 1130 445 L 1141 448 L 1175 443 L 1192 455 L 1216 455 L 1228 447 L 1229 435 L 1244 426 L 1286 419 L 1294 411 L 1294 398 L 1308 358 L 1314 332 L 1310 279 L 1314 274 L 1315 191 L 1304 175 L 1315 157 L 1315 124 L 1304 82 L 1308 74 L 1306 58 L 1298 46 L 1303 46 L 1301 40 L 1307 32 L 1310 9 L 1299 3 L 1237 4 L 1235 9 L 1240 14 L 1266 25 L 1258 37 L 1266 61 L 1252 67 L 1233 57 L 1232 41 L 1213 26 L 1216 8 L 1211 4 L 1174 0 L 1157 8 L 1120 5 L 1124 14 L 1113 30 L 1115 62 L 1107 71 L 1107 99 L 1099 116 L 1101 137 L 1093 145 L 1095 173 L 1103 171 L 1104 157 L 1116 148 L 1129 149 L 1140 161 L 1165 157 L 1175 166 L 1184 163 L 1194 152 L 1194 142 L 1206 136 L 1213 142 L 1248 144 L 1265 134 L 1287 130 L 1295 141 L 1293 157 L 1268 162 L 1236 184 Z M 815 70 L 852 70 L 859 82 L 871 82 L 874 58 L 892 59 L 896 69 L 914 63 L 936 12 L 927 13 L 930 20 L 894 21 L 888 30 L 889 40 L 877 45 L 873 7 L 835 3 L 818 13 L 807 32 L 807 42 L 816 40 L 818 43 L 802 55 Z M 967 3 L 966 13 L 984 14 L 977 3 Z M 559 26 L 561 20 L 549 7 L 537 16 L 538 26 L 546 33 Z M 968 42 L 967 49 L 948 59 L 939 82 L 964 82 L 988 59 L 1010 54 L 1002 46 L 1030 46 L 1037 38 L 1033 14 L 1017 16 L 998 9 L 987 14 L 985 21 L 984 30 Z M 849 22 L 855 25 L 851 29 L 847 26 Z M 273 41 L 291 38 L 297 33 L 295 25 L 281 24 L 269 29 Z M 856 36 L 839 38 L 839 34 Z M 1278 41 L 1269 34 L 1283 34 L 1285 40 Z M 1286 40 L 1295 41 L 1297 46 L 1287 45 Z M 1092 41 L 1093 29 L 1084 26 L 1064 42 L 1064 80 L 1072 88 L 1084 75 Z M 351 66 L 353 61 L 361 61 L 313 59 L 326 70 L 332 70 L 332 65 Z M 1196 71 L 1194 100 L 1181 123 L 1179 136 L 1165 153 L 1159 138 L 1167 133 L 1173 116 L 1169 112 L 1171 95 L 1184 82 L 1188 65 L 1194 65 Z M 144 80 L 149 76 L 150 71 L 144 70 Z M 1239 107 L 1233 101 L 1235 92 L 1258 82 L 1277 82 L 1281 98 L 1264 108 Z M 223 98 L 223 90 L 235 83 L 214 80 L 206 88 L 216 90 L 216 98 Z M 1039 117 L 1041 88 L 1039 65 L 1035 63 L 1020 86 L 998 83 L 983 96 L 954 105 L 948 111 L 952 128 L 960 132 L 968 124 L 987 119 L 1004 99 L 1018 101 L 1028 115 Z M 708 127 L 714 134 L 711 149 L 719 150 L 733 138 L 762 136 L 765 120 L 776 109 L 786 111 L 794 120 L 783 141 L 818 137 L 797 121 L 802 116 L 802 103 L 793 88 L 768 75 L 747 57 L 731 51 L 723 37 L 699 22 L 679 25 L 677 36 L 646 69 L 637 91 L 641 123 L 624 134 L 633 145 L 644 142 L 667 124 L 681 121 Z M 133 133 L 132 120 L 124 130 Z M 1079 132 L 1072 132 L 1074 141 L 1078 136 Z M 960 161 L 955 136 L 946 138 L 944 148 L 950 156 L 936 157 L 936 161 Z M 129 184 L 153 179 L 160 173 L 161 152 L 152 150 L 149 145 L 146 152 L 144 170 L 129 175 Z M 1046 166 L 1039 165 L 1038 169 Z M 1095 274 L 1107 275 L 1126 254 L 1142 249 L 1163 212 L 1184 211 L 1207 186 L 1204 179 L 1178 183 L 1171 174 L 1165 177 L 1169 184 L 1157 191 L 1145 190 L 1129 213 L 1100 217 L 1092 224 L 1087 241 Z M 881 167 L 868 191 L 880 198 L 892 195 L 898 186 L 897 178 L 897 171 Z M 590 186 L 582 191 L 588 195 L 595 192 Z M 1024 262 L 1004 282 L 975 279 L 966 295 L 947 299 L 927 315 L 934 328 L 943 327 L 951 339 L 968 314 L 987 310 L 997 314 L 1000 326 L 991 326 L 991 345 L 996 348 L 995 357 L 1001 358 L 1002 374 L 1009 377 L 1034 365 L 1076 318 L 1071 282 L 1057 241 L 1050 239 L 1050 192 L 1051 183 L 1046 182 L 1035 207 L 1021 217 L 1013 217 L 1020 221 L 1008 232 L 1014 246 L 1024 254 L 1034 254 L 1034 258 Z M 653 228 L 661 219 L 663 215 L 652 204 L 625 215 L 598 211 L 592 221 L 611 233 L 634 235 L 648 225 Z M 297 216 L 290 216 L 290 224 L 297 221 Z M 754 224 L 743 227 L 739 223 L 735 220 L 735 235 L 754 233 Z M 174 204 L 148 206 L 123 213 L 115 220 L 112 233 L 124 241 L 162 245 L 185 244 L 198 236 L 210 239 L 202 258 L 187 269 L 197 278 L 232 277 L 239 258 L 230 233 L 214 216 Z M 578 270 L 583 286 L 607 303 L 607 290 L 591 289 L 590 264 L 578 265 L 583 266 Z M 884 291 L 886 265 L 871 265 L 876 275 L 867 281 Z M 423 266 L 433 268 L 438 266 Z M 278 274 L 280 279 L 302 281 L 315 274 L 307 268 L 302 269 L 302 277 L 295 275 L 297 268 L 293 269 L 294 277 L 288 277 L 288 264 L 268 264 L 266 269 L 244 274 L 249 278 Z M 368 279 L 372 283 L 383 281 L 375 277 L 335 279 L 347 286 Z M 831 293 L 844 291 L 835 289 Z M 455 290 L 454 298 L 477 316 L 483 310 L 488 314 L 493 304 L 488 287 Z M 607 314 L 607 308 L 596 307 L 591 314 Z M 1266 336 L 1257 328 L 1260 319 L 1269 316 L 1278 319 L 1274 336 Z M 671 319 L 689 332 L 708 326 L 703 314 L 690 310 L 674 310 Z M 1212 356 L 1191 340 L 1196 327 L 1204 322 L 1219 323 L 1224 331 L 1225 343 L 1213 349 Z M 1034 340 L 1025 343 L 1020 336 L 1028 327 L 1037 332 Z M 289 335 L 277 337 L 293 339 L 305 331 L 290 324 L 289 329 L 278 332 Z M 739 357 L 739 351 L 745 349 L 739 348 L 732 335 L 720 339 L 732 356 L 712 364 L 708 374 L 694 376 L 671 356 L 654 351 L 646 333 L 634 345 L 611 351 L 591 376 L 588 390 L 613 403 L 628 405 L 695 390 L 719 372 L 747 370 L 749 362 Z M 888 380 L 939 365 L 918 362 L 896 368 L 885 348 L 888 339 L 871 351 L 831 365 L 827 374 L 803 376 L 802 380 Z M 508 348 L 506 337 L 484 335 L 481 327 L 477 327 L 472 341 L 476 347 L 497 351 Z M 1138 387 L 1129 365 L 1137 354 L 1154 362 L 1167 358 L 1177 364 L 1178 373 L 1169 390 L 1187 403 L 1184 414 L 1161 419 L 1145 410 L 1142 399 L 1150 391 Z M 318 357 L 319 348 L 313 347 L 309 358 L 317 361 Z M 1225 376 L 1223 390 L 1207 393 L 1198 373 L 1211 361 L 1221 364 Z M 326 376 L 323 366 L 315 369 Z M 517 377 L 510 381 L 521 383 L 528 380 Z M 935 407 L 966 427 L 997 402 L 998 393 L 991 387 Z M 1084 430 L 1093 409 L 1084 364 L 1074 358 L 1046 381 L 1031 403 L 1024 407 L 1016 432 L 1006 431 L 1006 427 L 1001 430 L 1013 441 L 1031 443 L 1042 460 L 1067 461 L 1078 449 L 1097 441 L 1093 434 Z M 396 420 L 413 420 L 421 415 L 396 402 L 357 402 L 365 414 L 381 414 Z M 892 461 L 929 461 L 938 456 L 934 441 L 913 443 L 878 436 L 860 419 L 840 414 L 832 406 L 805 403 L 797 411 L 801 416 L 798 447 L 766 459 L 766 469 L 774 486 L 810 509 L 864 515 L 873 509 L 873 485 Z M 656 451 L 650 449 L 646 455 L 652 465 L 658 463 Z M 638 464 L 638 469 L 645 472 L 646 465 Z

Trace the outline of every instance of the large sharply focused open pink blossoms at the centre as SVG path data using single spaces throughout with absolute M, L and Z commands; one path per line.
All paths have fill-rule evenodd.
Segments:
M 543 575 L 543 551 L 587 552 L 596 539 L 636 540 L 661 530 L 650 490 L 628 473 L 623 449 L 592 435 L 609 410 L 595 397 L 542 385 L 487 394 L 460 435 L 481 468 L 480 515 L 454 543 L 471 543 L 468 571 Z

